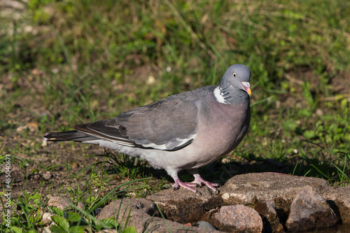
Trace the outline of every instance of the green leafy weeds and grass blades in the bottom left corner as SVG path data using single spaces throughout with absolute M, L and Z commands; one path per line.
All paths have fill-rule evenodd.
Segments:
M 114 218 L 99 221 L 91 213 L 94 213 L 94 209 L 97 209 L 97 207 L 104 206 L 107 202 L 111 201 L 111 198 L 114 197 L 116 199 L 118 194 L 123 193 L 130 188 L 144 187 L 144 185 L 130 186 L 130 184 L 134 182 L 144 182 L 148 179 L 149 178 L 143 178 L 119 185 L 103 197 L 86 197 L 83 199 L 83 204 L 86 206 L 85 209 L 87 209 L 87 211 L 78 208 L 78 206 L 73 203 L 69 208 L 75 211 L 62 211 L 55 206 L 49 207 L 50 211 L 54 214 L 50 218 L 52 222 L 55 223 L 55 225 L 50 226 L 51 232 L 84 232 L 85 230 L 98 232 L 104 229 L 116 229 L 118 232 L 136 232 L 134 227 L 120 225 Z M 78 190 L 71 195 L 81 194 Z M 18 199 L 19 202 L 17 206 L 19 206 L 21 212 L 15 212 L 13 213 L 13 216 L 11 216 L 10 229 L 16 233 L 36 232 L 36 230 L 45 227 L 47 223 L 43 223 L 42 216 L 43 210 L 48 206 L 43 202 L 43 197 L 37 193 L 37 190 L 29 194 L 23 192 L 23 197 L 18 197 Z M 0 225 L 0 230 L 6 229 L 8 229 L 6 223 L 2 223 Z

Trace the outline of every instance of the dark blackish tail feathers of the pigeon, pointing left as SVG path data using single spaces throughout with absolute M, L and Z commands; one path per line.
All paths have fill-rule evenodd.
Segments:
M 92 136 L 90 134 L 85 134 L 84 132 L 79 132 L 78 130 L 71 130 L 65 132 L 52 132 L 50 134 L 46 134 L 45 139 L 48 141 L 92 141 L 98 140 L 96 136 Z

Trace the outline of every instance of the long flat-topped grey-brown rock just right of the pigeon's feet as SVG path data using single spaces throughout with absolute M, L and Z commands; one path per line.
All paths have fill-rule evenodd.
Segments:
M 286 174 L 244 174 L 231 178 L 221 188 L 223 204 L 256 204 L 274 200 L 276 206 L 289 212 L 293 198 L 305 185 L 328 189 L 330 184 L 321 178 Z

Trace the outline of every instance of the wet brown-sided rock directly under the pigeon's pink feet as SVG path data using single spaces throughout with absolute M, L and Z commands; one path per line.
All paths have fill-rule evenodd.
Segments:
M 200 218 L 211 209 L 221 205 L 221 196 L 207 187 L 197 188 L 200 193 L 190 190 L 176 192 L 172 189 L 162 190 L 146 199 L 155 202 L 165 218 L 180 223 L 190 223 Z

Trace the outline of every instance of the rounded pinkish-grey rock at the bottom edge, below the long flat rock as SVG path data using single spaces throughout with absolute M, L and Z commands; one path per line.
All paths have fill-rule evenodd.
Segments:
M 209 223 L 227 232 L 262 232 L 262 220 L 254 209 L 244 206 L 222 206 L 209 211 Z

